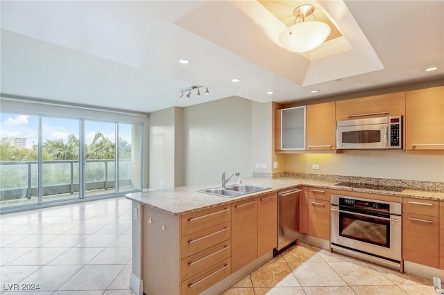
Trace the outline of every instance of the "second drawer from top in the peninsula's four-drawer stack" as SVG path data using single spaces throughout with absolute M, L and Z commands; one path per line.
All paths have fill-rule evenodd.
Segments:
M 191 256 L 199 251 L 210 248 L 215 244 L 230 240 L 231 238 L 231 222 L 225 222 L 210 229 L 204 229 L 197 233 L 185 235 L 181 239 L 182 258 Z

